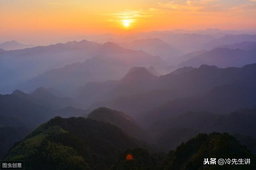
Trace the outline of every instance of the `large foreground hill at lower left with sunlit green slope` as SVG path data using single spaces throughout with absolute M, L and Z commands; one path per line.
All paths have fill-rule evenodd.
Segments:
M 14 146 L 6 160 L 24 160 L 26 170 L 104 170 L 136 141 L 121 129 L 83 117 L 55 117 Z

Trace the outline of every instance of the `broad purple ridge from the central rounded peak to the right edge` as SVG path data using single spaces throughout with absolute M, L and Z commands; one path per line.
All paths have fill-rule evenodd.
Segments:
M 180 72 L 180 74 L 175 74 L 177 72 Z M 171 72 L 163 76 L 154 76 L 145 71 L 145 68 L 141 68 L 129 72 L 118 82 L 110 83 L 108 88 L 102 88 L 107 82 L 102 84 L 97 83 L 97 86 L 93 86 L 94 90 L 91 95 L 93 99 L 95 99 L 95 96 L 98 96 L 98 102 L 95 102 L 91 106 L 91 109 L 105 106 L 124 111 L 136 119 L 140 115 L 143 115 L 142 117 L 144 118 L 151 119 L 152 117 L 150 115 L 154 114 L 159 119 L 161 115 L 163 117 L 167 116 L 168 112 L 174 114 L 176 112 L 189 111 L 189 109 L 193 109 L 192 111 L 198 111 L 194 109 L 199 109 L 200 111 L 202 109 L 210 109 L 208 111 L 230 112 L 238 107 L 249 107 L 253 104 L 254 98 L 250 97 L 250 94 L 253 95 L 253 93 L 250 93 L 250 90 L 253 90 L 254 74 L 255 64 L 250 64 L 242 68 L 230 67 L 224 69 L 207 65 L 202 65 L 199 68 L 185 67 L 183 71 L 177 70 L 174 73 Z M 215 88 L 217 86 L 220 87 Z M 228 100 L 228 96 L 241 86 L 248 87 L 248 90 L 243 88 L 240 90 L 241 93 L 235 94 L 237 97 L 243 93 L 244 95 L 248 94 L 246 96 L 248 98 L 244 100 L 245 102 L 241 101 L 239 103 L 237 98 Z M 88 86 L 84 88 L 84 91 L 87 91 L 84 98 L 89 99 L 90 93 L 88 92 L 92 88 L 87 88 Z M 102 91 L 102 89 L 105 91 Z M 223 96 L 217 97 L 216 95 L 222 94 L 220 90 L 223 91 Z M 99 94 L 96 92 L 99 92 Z M 81 92 L 80 94 L 83 93 Z M 169 103 L 166 103 L 168 101 Z M 218 101 L 224 102 L 218 105 L 216 103 Z M 200 104 L 201 102 L 203 104 Z M 196 104 L 194 105 L 194 103 Z M 235 107 L 236 103 L 239 103 L 237 107 Z M 222 107 L 223 104 L 227 105 L 224 107 L 225 109 Z M 175 110 L 169 111 L 169 109 L 164 109 L 171 107 Z M 145 111 L 150 111 L 150 113 L 145 116 L 143 113 Z M 155 120 L 156 117 L 151 120 Z M 147 120 L 145 122 L 151 121 Z

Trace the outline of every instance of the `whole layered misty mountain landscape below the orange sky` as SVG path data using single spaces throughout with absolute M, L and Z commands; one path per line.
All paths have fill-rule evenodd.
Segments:
M 255 33 L 0 44 L 0 159 L 26 170 L 255 170 Z

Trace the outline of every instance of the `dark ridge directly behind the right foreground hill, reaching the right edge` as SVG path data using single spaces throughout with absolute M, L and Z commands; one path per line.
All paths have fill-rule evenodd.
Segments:
M 256 110 L 248 108 L 238 109 L 227 115 L 206 111 L 189 111 L 156 121 L 148 128 L 148 131 L 150 131 L 153 139 L 156 139 L 156 145 L 168 151 L 175 149 L 181 142 L 188 141 L 198 133 L 226 132 L 238 137 L 244 135 L 255 139 L 256 133 L 250 130 L 255 128 L 255 119 Z M 242 139 L 242 137 L 239 137 L 239 139 Z M 241 143 L 246 142 L 241 141 Z M 254 147 L 250 149 L 255 153 Z

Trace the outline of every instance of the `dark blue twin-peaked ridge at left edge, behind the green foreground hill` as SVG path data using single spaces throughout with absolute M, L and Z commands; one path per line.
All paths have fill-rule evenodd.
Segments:
M 0 95 L 0 109 L 2 110 L 0 115 L 16 117 L 22 123 L 21 125 L 28 128 L 33 128 L 56 115 L 60 116 L 58 109 L 64 110 L 65 107 L 83 108 L 83 105 L 72 98 L 54 96 L 45 88 L 38 88 L 32 94 L 15 90 L 12 94 Z M 70 116 L 77 116 L 81 113 L 81 109 L 72 111 L 74 114 Z

